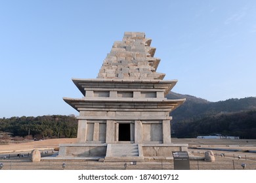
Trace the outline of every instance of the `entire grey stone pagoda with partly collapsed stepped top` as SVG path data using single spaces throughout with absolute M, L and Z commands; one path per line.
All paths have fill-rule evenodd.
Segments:
M 77 143 L 60 144 L 58 158 L 171 159 L 188 144 L 171 142 L 170 112 L 185 99 L 165 96 L 177 80 L 156 73 L 156 48 L 144 33 L 125 32 L 95 79 L 73 78 L 81 99 L 64 97 L 79 112 Z

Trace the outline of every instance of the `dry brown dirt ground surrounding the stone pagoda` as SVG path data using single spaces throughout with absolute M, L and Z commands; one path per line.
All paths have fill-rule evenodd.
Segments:
M 63 169 L 174 169 L 173 161 L 137 161 L 136 165 L 131 162 L 100 162 L 100 161 L 40 161 L 32 163 L 26 153 L 30 153 L 37 148 L 42 152 L 42 156 L 51 155 L 54 148 L 59 144 L 75 143 L 76 139 L 49 139 L 45 141 L 24 142 L 21 144 L 0 145 L 0 164 L 2 169 L 42 169 L 58 170 Z M 188 144 L 188 152 L 194 156 L 190 159 L 190 169 L 192 170 L 242 170 L 242 163 L 246 164 L 245 169 L 256 170 L 256 140 L 246 139 L 172 139 L 175 144 Z M 214 162 L 206 162 L 197 157 L 204 157 L 204 152 L 213 150 L 215 154 Z M 8 154 L 11 158 L 8 157 Z M 17 156 L 22 154 L 22 156 Z M 224 154 L 222 156 L 221 154 Z M 4 157 L 5 156 L 5 157 Z M 241 158 L 238 158 L 240 156 Z

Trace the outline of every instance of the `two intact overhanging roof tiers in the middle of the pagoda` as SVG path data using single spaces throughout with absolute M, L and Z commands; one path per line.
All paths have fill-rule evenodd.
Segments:
M 177 80 L 73 79 L 73 82 L 84 97 L 82 99 L 65 97 L 64 101 L 79 112 L 95 110 L 95 108 L 100 111 L 123 110 L 123 108 L 139 111 L 154 108 L 158 111 L 171 112 L 184 103 L 184 99 L 165 98 Z M 159 115 L 157 116 L 159 118 Z M 95 118 L 99 117 L 95 116 Z

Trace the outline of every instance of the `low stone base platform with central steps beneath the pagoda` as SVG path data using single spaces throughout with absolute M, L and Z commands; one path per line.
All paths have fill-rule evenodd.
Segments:
M 121 146 L 125 149 L 131 144 L 124 143 Z M 113 144 L 60 144 L 58 156 L 44 158 L 44 160 L 98 160 L 102 158 L 104 161 L 172 160 L 172 152 L 188 151 L 188 144 L 137 144 L 138 154 L 135 156 L 129 154 L 117 156 L 110 153 L 111 148 L 114 148 Z

